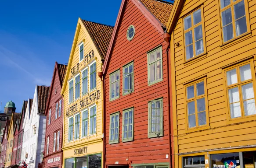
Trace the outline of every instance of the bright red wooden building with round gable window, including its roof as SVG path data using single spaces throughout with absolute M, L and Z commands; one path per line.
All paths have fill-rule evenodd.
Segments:
M 123 0 L 103 66 L 105 168 L 171 167 L 169 44 L 172 4 Z

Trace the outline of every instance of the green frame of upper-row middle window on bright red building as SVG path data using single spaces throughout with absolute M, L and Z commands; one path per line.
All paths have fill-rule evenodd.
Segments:
M 132 69 L 129 69 L 132 67 Z M 126 72 L 127 69 L 127 72 Z M 131 71 L 131 72 L 130 72 Z M 130 76 L 130 78 L 129 78 Z M 125 89 L 125 78 L 128 78 L 128 89 Z M 131 81 L 130 81 L 131 80 Z M 129 86 L 131 88 L 129 88 Z M 128 95 L 134 91 L 134 66 L 133 66 L 133 61 L 131 63 L 126 64 L 123 66 L 123 96 Z

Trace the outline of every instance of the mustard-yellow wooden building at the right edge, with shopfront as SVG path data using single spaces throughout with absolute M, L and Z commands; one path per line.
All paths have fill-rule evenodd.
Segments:
M 175 0 L 175 168 L 255 168 L 256 0 Z

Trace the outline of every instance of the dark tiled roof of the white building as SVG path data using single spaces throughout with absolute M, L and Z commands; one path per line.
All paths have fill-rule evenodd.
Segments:
M 37 86 L 38 113 L 44 114 L 49 92 L 50 86 Z

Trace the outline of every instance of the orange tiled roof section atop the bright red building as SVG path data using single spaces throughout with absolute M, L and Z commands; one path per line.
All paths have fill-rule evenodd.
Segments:
M 162 25 L 167 24 L 173 4 L 164 0 L 140 0 L 142 4 L 157 18 Z

